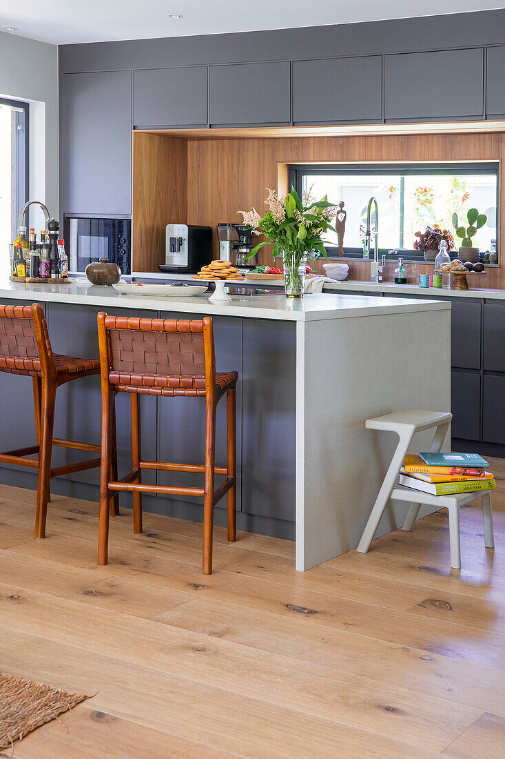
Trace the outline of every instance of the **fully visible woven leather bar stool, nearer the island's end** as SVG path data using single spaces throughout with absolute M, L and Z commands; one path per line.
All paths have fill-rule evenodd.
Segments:
M 202 572 L 212 573 L 214 506 L 227 493 L 228 540 L 236 540 L 235 524 L 235 387 L 237 372 L 215 371 L 212 319 L 133 319 L 98 315 L 102 376 L 102 469 L 100 479 L 99 564 L 107 563 L 108 499 L 111 491 L 133 493 L 133 531 L 142 532 L 141 493 L 203 496 Z M 119 481 L 109 480 L 111 419 L 117 392 L 131 400 L 132 470 Z M 227 402 L 227 465 L 215 466 L 215 414 L 220 398 Z M 138 395 L 205 397 L 205 463 L 173 464 L 141 461 Z M 203 487 L 143 485 L 143 469 L 198 472 Z M 215 474 L 225 480 L 214 490 Z

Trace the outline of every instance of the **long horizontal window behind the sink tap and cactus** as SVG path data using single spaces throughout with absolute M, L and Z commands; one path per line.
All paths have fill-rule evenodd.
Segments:
M 366 210 L 372 196 L 378 202 L 378 246 L 380 254 L 401 254 L 422 259 L 414 249 L 416 231 L 438 224 L 454 236 L 457 255 L 461 240 L 456 238 L 453 213 L 458 225 L 469 226 L 466 214 L 478 209 L 488 217 L 472 238 L 482 253 L 497 248 L 498 163 L 406 163 L 359 165 L 299 165 L 290 167 L 290 184 L 300 197 L 311 192 L 328 195 L 331 203 L 343 200 L 347 211 L 343 238 L 345 256 L 362 257 Z M 372 229 L 374 226 L 372 212 Z M 337 235 L 328 235 L 329 255 L 337 255 Z M 372 254 L 373 255 L 373 254 Z

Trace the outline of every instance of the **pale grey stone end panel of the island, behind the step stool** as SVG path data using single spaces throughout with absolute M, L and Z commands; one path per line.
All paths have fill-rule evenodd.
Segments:
M 398 438 L 365 420 L 450 410 L 450 309 L 309 321 L 297 342 L 296 568 L 306 570 L 356 548 L 369 518 Z M 431 437 L 419 433 L 412 452 Z M 390 502 L 376 535 L 405 515 Z

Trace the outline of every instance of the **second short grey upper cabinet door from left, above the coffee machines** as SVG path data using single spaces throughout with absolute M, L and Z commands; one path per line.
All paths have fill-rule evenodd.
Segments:
M 219 124 L 290 124 L 290 63 L 209 67 L 209 121 Z

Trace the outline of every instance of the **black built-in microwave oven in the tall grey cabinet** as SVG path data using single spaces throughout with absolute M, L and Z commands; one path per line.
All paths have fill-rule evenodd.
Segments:
M 122 274 L 131 273 L 131 220 L 64 216 L 63 236 L 71 273 L 84 272 L 88 263 L 106 258 Z

